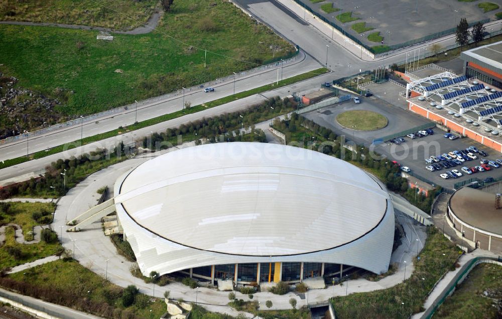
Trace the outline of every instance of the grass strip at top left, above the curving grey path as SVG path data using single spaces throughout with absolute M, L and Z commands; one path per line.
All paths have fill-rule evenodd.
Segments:
M 91 0 L 3 0 L 0 2 L 0 20 L 52 22 L 122 30 L 146 23 L 157 3 L 156 0 L 107 0 L 102 3 L 105 8 Z

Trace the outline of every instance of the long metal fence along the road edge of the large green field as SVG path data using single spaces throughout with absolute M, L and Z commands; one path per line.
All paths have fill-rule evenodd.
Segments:
M 297 49 L 296 52 L 294 52 L 294 53 L 291 54 L 290 58 L 284 59 L 284 57 L 283 57 L 282 58 L 283 59 L 282 62 L 275 61 L 275 62 L 266 64 L 266 65 L 259 66 L 257 68 L 253 68 L 253 69 L 250 69 L 250 70 L 247 70 L 247 71 L 239 72 L 236 75 L 232 74 L 232 75 L 229 75 L 229 76 L 226 76 L 226 77 L 223 77 L 223 78 L 218 78 L 216 80 L 209 81 L 209 82 L 206 82 L 206 83 L 203 83 L 203 84 L 200 84 L 200 85 L 194 85 L 192 87 L 186 88 L 185 90 L 177 90 L 177 91 L 174 91 L 174 92 L 171 92 L 171 93 L 167 93 L 167 94 L 164 94 L 164 95 L 160 95 L 160 96 L 148 98 L 146 100 L 141 100 L 141 101 L 138 101 L 137 103 L 132 103 L 132 104 L 124 105 L 124 106 L 115 107 L 115 108 L 112 108 L 112 109 L 109 109 L 109 110 L 106 110 L 106 111 L 103 111 L 103 112 L 99 112 L 99 113 L 87 115 L 87 116 L 84 116 L 84 117 L 79 117 L 79 118 L 76 118 L 76 119 L 73 119 L 73 120 L 70 120 L 70 121 L 67 121 L 67 122 L 64 122 L 64 123 L 55 124 L 55 125 L 52 125 L 52 126 L 49 126 L 49 127 L 45 127 L 45 128 L 33 131 L 33 132 L 28 132 L 28 133 L 25 133 L 25 134 L 20 134 L 20 135 L 16 135 L 16 136 L 7 137 L 5 139 L 0 140 L 0 145 L 1 144 L 6 144 L 6 143 L 11 143 L 11 142 L 18 141 L 18 140 L 21 140 L 21 139 L 25 139 L 25 138 L 28 138 L 28 137 L 38 136 L 38 135 L 45 134 L 45 133 L 51 132 L 51 131 L 55 131 L 55 130 L 58 130 L 58 129 L 61 129 L 61 128 L 67 128 L 67 127 L 71 127 L 71 126 L 74 126 L 74 125 L 82 125 L 83 123 L 94 121 L 94 120 L 96 120 L 98 118 L 101 118 L 101 117 L 106 117 L 106 116 L 110 116 L 110 115 L 122 113 L 124 111 L 128 111 L 128 110 L 131 110 L 131 109 L 136 110 L 138 107 L 142 107 L 142 106 L 150 104 L 150 103 L 154 103 L 154 102 L 166 100 L 166 99 L 169 99 L 169 98 L 175 97 L 175 96 L 181 96 L 183 94 L 187 94 L 187 93 L 190 93 L 192 91 L 198 91 L 198 90 L 200 90 L 203 87 L 214 86 L 214 85 L 217 85 L 217 84 L 225 82 L 225 81 L 233 80 L 234 77 L 238 79 L 240 77 L 245 77 L 245 76 L 248 76 L 250 74 L 262 72 L 262 71 L 267 70 L 267 69 L 273 69 L 273 68 L 279 67 L 281 65 L 288 64 L 288 63 L 296 61 L 298 59 L 299 52 L 300 52 L 300 50 Z M 281 59 L 281 57 L 279 57 L 277 59 Z M 133 123 L 131 123 L 131 124 L 133 124 Z

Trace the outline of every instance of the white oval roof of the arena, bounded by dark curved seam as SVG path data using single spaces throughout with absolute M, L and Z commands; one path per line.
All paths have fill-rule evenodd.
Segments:
M 245 256 L 304 254 L 354 241 L 379 225 L 388 198 L 340 159 L 244 142 L 155 157 L 119 189 L 115 203 L 153 238 Z

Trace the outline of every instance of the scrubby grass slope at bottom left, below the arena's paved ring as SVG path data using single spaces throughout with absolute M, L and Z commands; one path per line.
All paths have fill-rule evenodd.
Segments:
M 25 273 L 11 274 L 7 279 L 25 283 L 25 287 L 28 289 L 24 294 L 78 310 L 98 313 L 103 308 L 101 305 L 109 305 L 115 309 L 133 313 L 139 318 L 159 318 L 166 312 L 164 299 L 156 299 L 155 302 L 152 302 L 151 297 L 141 294 L 140 297 L 136 297 L 133 305 L 123 307 L 120 302 L 123 288 L 110 283 L 74 260 L 53 261 L 30 268 Z M 29 289 L 30 286 L 37 287 L 36 291 Z M 51 296 L 55 294 L 54 292 L 59 295 Z M 51 298 L 57 298 L 57 300 Z

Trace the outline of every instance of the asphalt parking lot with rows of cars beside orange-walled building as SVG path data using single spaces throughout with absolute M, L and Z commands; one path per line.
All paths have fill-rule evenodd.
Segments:
M 458 138 L 455 140 L 449 140 L 448 138 L 443 137 L 444 133 L 444 131 L 438 128 L 434 128 L 434 135 L 415 139 L 404 137 L 405 142 L 400 145 L 386 142 L 376 146 L 375 151 L 387 155 L 390 159 L 397 161 L 402 166 L 409 167 L 412 170 L 412 173 L 431 181 L 433 184 L 450 189 L 453 189 L 455 183 L 471 178 L 477 178 L 482 181 L 487 177 L 502 177 L 502 168 L 490 168 L 490 171 L 477 172 L 471 175 L 462 173 L 462 176 L 456 179 L 449 178 L 447 180 L 444 180 L 443 178 L 439 177 L 440 174 L 443 174 L 446 171 L 451 171 L 453 169 L 461 171 L 461 168 L 464 166 L 469 168 L 473 166 L 479 166 L 480 159 L 487 159 L 489 161 L 502 159 L 502 157 L 500 157 L 500 154 L 496 153 L 495 150 L 484 146 L 470 138 Z M 475 155 L 477 155 L 477 159 L 473 159 L 472 161 L 465 161 L 464 163 L 456 167 L 448 169 L 443 168 L 440 171 L 434 172 L 429 172 L 426 170 L 425 167 L 430 164 L 427 164 L 425 162 L 425 158 L 429 158 L 431 155 L 437 156 L 442 153 L 449 153 L 450 151 L 456 149 L 465 149 L 471 145 L 485 151 L 486 153 L 488 153 L 488 156 L 483 157 L 475 153 Z

